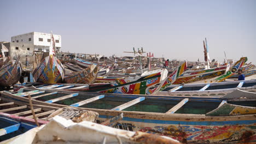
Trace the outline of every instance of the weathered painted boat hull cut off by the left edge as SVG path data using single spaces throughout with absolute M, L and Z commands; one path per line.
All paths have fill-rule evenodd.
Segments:
M 0 68 L 0 86 L 9 87 L 20 80 L 21 65 L 19 63 L 20 56 L 15 61 L 10 61 Z

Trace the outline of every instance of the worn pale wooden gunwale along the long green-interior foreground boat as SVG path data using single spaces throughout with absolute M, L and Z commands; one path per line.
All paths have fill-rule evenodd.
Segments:
M 15 100 L 24 101 L 28 103 L 28 98 L 19 97 L 10 93 L 2 93 L 2 97 L 9 97 Z M 39 100 L 32 100 L 33 104 L 36 105 L 45 105 L 51 107 L 69 107 L 67 105 L 60 105 L 60 104 L 49 104 L 44 101 Z M 72 107 L 72 106 L 71 106 Z M 78 107 L 75 107 L 78 108 Z M 198 121 L 245 121 L 245 120 L 254 120 L 255 121 L 255 114 L 250 115 L 235 115 L 235 116 L 206 116 L 206 115 L 199 115 L 199 114 L 183 114 L 183 113 L 160 113 L 160 112 L 141 112 L 141 111 L 115 111 L 115 110 L 105 110 L 105 109 L 92 109 L 92 108 L 85 108 L 79 107 L 79 109 L 83 110 L 91 110 L 98 112 L 100 115 L 107 115 L 107 116 L 116 116 L 120 113 L 124 113 L 124 117 L 130 118 L 140 118 L 140 119 L 158 119 L 162 121 L 187 121 L 187 122 L 198 122 Z

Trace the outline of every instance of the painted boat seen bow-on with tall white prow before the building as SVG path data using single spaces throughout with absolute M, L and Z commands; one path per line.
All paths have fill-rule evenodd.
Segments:
M 45 57 L 33 71 L 34 81 L 42 83 L 60 83 L 65 76 L 65 69 L 57 57 L 55 57 L 55 41 L 51 34 L 49 56 Z

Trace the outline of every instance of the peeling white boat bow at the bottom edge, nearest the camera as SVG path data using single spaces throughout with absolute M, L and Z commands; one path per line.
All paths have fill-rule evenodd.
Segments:
M 36 140 L 36 141 L 35 141 Z M 8 143 L 169 143 L 181 144 L 170 137 L 110 128 L 101 124 L 84 121 L 74 123 L 60 116 L 48 124 L 34 128 L 15 137 Z

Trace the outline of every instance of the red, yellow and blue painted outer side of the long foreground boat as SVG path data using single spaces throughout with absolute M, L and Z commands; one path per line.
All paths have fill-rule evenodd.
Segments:
M 103 121 L 108 116 L 100 115 Z M 166 121 L 123 117 L 114 128 L 169 136 L 184 143 L 253 143 L 255 120 Z

